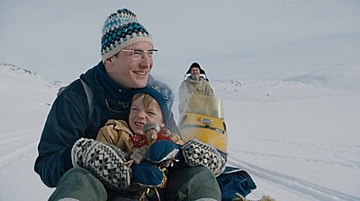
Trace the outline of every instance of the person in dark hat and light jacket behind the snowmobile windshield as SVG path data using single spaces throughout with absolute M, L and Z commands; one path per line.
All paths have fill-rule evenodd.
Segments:
M 211 88 L 211 85 L 206 78 L 205 71 L 202 70 L 201 66 L 198 63 L 193 63 L 186 74 L 190 74 L 186 79 L 181 83 L 179 87 L 179 113 L 184 112 L 184 107 L 186 101 L 189 99 L 189 96 L 193 93 L 205 95 L 205 96 L 214 96 L 214 92 Z M 204 74 L 205 77 L 202 77 L 201 74 Z

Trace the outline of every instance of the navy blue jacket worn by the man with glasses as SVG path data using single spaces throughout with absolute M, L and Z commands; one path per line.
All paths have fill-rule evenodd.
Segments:
M 105 73 L 103 63 L 80 75 L 94 93 L 93 114 L 89 123 L 89 106 L 84 87 L 79 79 L 70 83 L 54 101 L 45 126 L 42 130 L 38 146 L 38 158 L 34 170 L 50 188 L 58 185 L 64 173 L 73 168 L 71 148 L 81 137 L 95 139 L 100 127 L 109 118 L 128 121 L 130 98 L 135 90 L 127 90 L 117 85 L 110 92 L 111 78 Z M 114 85 L 112 82 L 110 85 Z M 107 102 L 106 102 L 107 101 Z M 166 127 L 178 133 L 175 121 Z

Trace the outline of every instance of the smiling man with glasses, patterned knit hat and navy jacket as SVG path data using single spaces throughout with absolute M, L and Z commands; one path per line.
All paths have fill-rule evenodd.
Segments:
M 124 200 L 90 171 L 74 168 L 74 161 L 83 159 L 72 148 L 82 137 L 94 139 L 108 119 L 128 119 L 130 97 L 151 84 L 156 51 L 148 31 L 129 10 L 112 13 L 104 22 L 103 60 L 58 95 L 40 137 L 34 170 L 45 185 L 56 188 L 49 200 Z M 166 127 L 177 133 L 174 118 Z M 215 177 L 202 167 L 174 170 L 167 188 L 166 200 L 220 200 Z

